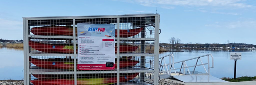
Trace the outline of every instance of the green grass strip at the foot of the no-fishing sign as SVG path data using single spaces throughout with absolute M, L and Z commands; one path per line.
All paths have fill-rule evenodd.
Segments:
M 255 81 L 256 77 L 250 77 L 250 76 L 244 76 L 244 77 L 238 77 L 236 79 L 234 78 L 221 78 L 222 80 L 229 81 L 229 82 L 243 82 L 243 81 Z

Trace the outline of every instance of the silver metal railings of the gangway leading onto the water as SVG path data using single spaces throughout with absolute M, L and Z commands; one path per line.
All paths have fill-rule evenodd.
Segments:
M 168 57 L 168 56 L 169 56 L 169 62 L 170 63 L 166 64 L 165 58 Z M 207 56 L 207 58 L 208 58 L 208 62 L 207 63 L 203 63 L 202 60 L 201 60 L 201 58 L 205 57 L 205 56 Z M 211 66 L 210 66 L 210 56 L 211 56 L 211 60 L 212 60 Z M 175 63 L 174 63 L 174 56 L 173 56 L 173 54 L 168 54 L 168 55 L 159 57 L 159 60 L 160 60 L 159 61 L 160 62 L 160 64 L 159 64 L 159 73 L 167 73 L 170 76 L 172 76 L 171 73 L 175 73 L 175 75 L 180 75 L 180 74 L 183 74 L 183 75 L 190 74 L 191 75 L 191 74 L 202 73 L 202 72 L 195 71 L 197 66 L 203 66 L 206 74 L 210 75 L 210 68 L 214 67 L 214 61 L 213 61 L 212 54 L 206 54 L 206 55 L 190 58 L 188 60 L 184 60 L 184 61 L 180 61 L 180 62 L 175 62 Z M 190 61 L 190 60 L 197 60 L 196 64 L 195 65 L 191 65 L 191 66 L 187 66 L 186 62 Z M 200 61 L 201 64 L 198 64 L 198 61 Z M 178 63 L 182 63 L 181 67 L 180 68 L 174 68 L 174 65 L 178 64 Z M 208 70 L 205 68 L 204 65 L 208 65 Z M 188 69 L 188 68 L 191 68 L 191 67 L 194 67 L 193 71 L 190 71 Z M 182 69 L 183 69 L 183 71 L 181 71 Z M 185 69 L 187 69 L 187 71 Z M 179 70 L 179 71 L 176 71 L 176 70 Z

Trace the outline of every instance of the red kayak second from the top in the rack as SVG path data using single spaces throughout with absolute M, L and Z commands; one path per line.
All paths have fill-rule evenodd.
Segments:
M 43 44 L 35 41 L 29 41 L 29 46 L 35 50 L 46 52 L 46 53 L 71 53 L 73 54 L 72 44 Z M 120 53 L 128 53 L 137 50 L 137 46 L 132 45 L 120 45 Z M 77 50 L 76 50 L 77 52 Z M 115 48 L 117 53 L 117 48 Z

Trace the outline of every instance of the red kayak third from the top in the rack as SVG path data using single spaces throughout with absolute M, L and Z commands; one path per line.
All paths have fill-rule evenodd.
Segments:
M 38 59 L 38 58 L 29 58 L 29 62 L 42 68 L 46 69 L 69 69 L 74 70 L 74 59 L 66 59 L 66 58 L 50 58 L 50 59 Z M 117 62 L 115 62 L 117 63 Z M 120 68 L 131 67 L 138 64 L 139 61 L 134 60 L 124 60 L 119 61 Z M 115 64 L 115 68 L 117 68 L 117 64 Z

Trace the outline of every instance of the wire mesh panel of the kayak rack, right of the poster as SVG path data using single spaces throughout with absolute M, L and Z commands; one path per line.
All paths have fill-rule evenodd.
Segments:
M 126 49 L 124 54 L 141 54 L 138 56 L 128 56 L 131 57 L 131 60 L 139 62 L 136 66 L 131 68 L 120 68 L 120 73 L 125 71 L 128 73 L 137 73 L 138 77 L 136 79 L 138 81 L 136 83 L 134 82 L 122 84 L 137 85 L 139 83 L 145 83 L 145 73 L 154 71 L 152 70 L 152 65 L 154 65 L 154 56 L 150 56 L 151 54 L 154 54 L 154 26 L 155 17 L 120 18 L 119 29 L 127 30 L 129 33 L 124 34 L 127 36 L 125 40 L 122 40 L 124 35 L 120 33 L 120 51 L 122 51 L 121 46 L 123 46 L 123 48 Z M 125 64 L 130 63 L 125 62 Z M 120 64 L 120 66 L 122 65 Z

